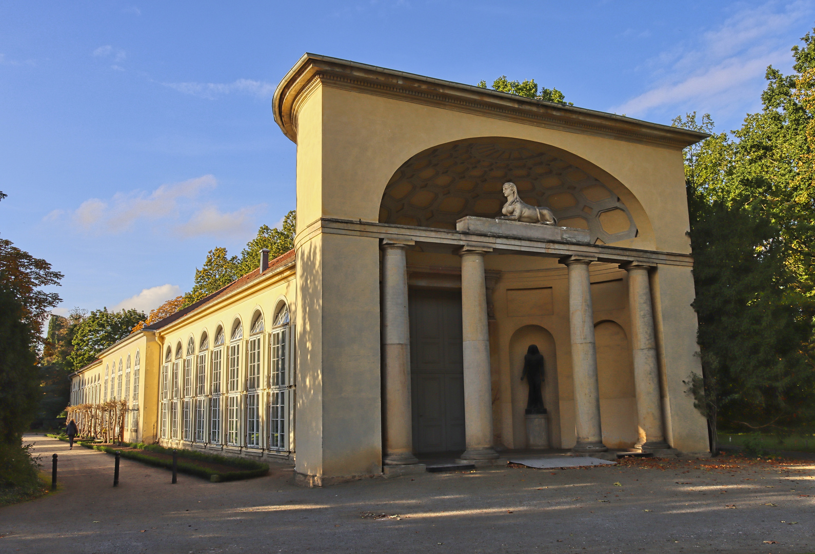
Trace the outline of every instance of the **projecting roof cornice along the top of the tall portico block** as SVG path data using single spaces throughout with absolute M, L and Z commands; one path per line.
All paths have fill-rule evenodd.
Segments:
M 306 54 L 286 74 L 272 100 L 275 121 L 297 143 L 297 110 L 318 83 L 437 108 L 515 121 L 526 125 L 593 134 L 680 150 L 707 134 L 606 112 L 527 99 L 496 90 L 443 81 L 343 59 Z

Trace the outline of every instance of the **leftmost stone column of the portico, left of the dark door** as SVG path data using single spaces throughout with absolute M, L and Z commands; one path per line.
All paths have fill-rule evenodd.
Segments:
M 382 464 L 409 465 L 413 455 L 406 242 L 382 241 Z

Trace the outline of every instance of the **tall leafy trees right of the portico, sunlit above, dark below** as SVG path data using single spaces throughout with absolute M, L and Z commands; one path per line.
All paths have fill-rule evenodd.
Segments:
M 815 34 L 802 41 L 795 74 L 767 69 L 760 112 L 685 151 L 711 424 L 815 423 Z M 713 129 L 707 114 L 674 125 Z

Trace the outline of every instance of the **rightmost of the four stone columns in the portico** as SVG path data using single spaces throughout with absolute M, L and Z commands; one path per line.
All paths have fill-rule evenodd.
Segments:
M 637 392 L 637 423 L 644 449 L 670 448 L 663 432 L 662 398 L 659 394 L 657 345 L 654 339 L 654 312 L 651 309 L 649 266 L 628 262 L 628 302 L 631 310 L 634 387 Z

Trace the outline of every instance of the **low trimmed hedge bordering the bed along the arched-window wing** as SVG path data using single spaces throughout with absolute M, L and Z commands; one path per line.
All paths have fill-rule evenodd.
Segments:
M 59 438 L 59 440 L 62 441 L 68 440 L 68 437 L 65 437 L 64 435 L 50 434 L 48 436 Z M 77 444 L 81 446 L 85 446 L 86 448 L 93 448 L 94 450 L 106 452 L 108 454 L 116 454 L 117 452 L 119 452 L 119 455 L 121 455 L 122 458 L 134 459 L 138 462 L 142 462 L 143 464 L 153 465 L 158 468 L 167 469 L 173 468 L 173 460 L 156 458 L 145 453 L 145 452 L 156 452 L 166 455 L 173 454 L 173 449 L 165 448 L 164 446 L 160 446 L 157 444 L 145 445 L 143 443 L 130 443 L 130 442 L 121 443 L 121 446 L 137 448 L 143 451 L 139 452 L 120 450 L 117 447 L 106 446 L 103 444 L 95 443 L 93 441 L 75 441 L 75 442 L 77 442 Z M 214 483 L 221 481 L 236 481 L 238 479 L 249 479 L 251 477 L 261 477 L 262 475 L 266 475 L 267 473 L 269 473 L 269 466 L 267 464 L 262 464 L 261 462 L 254 462 L 251 459 L 231 458 L 217 454 L 205 454 L 203 452 L 187 451 L 183 449 L 178 449 L 176 452 L 178 456 L 176 468 L 178 469 L 179 472 L 195 475 L 196 477 L 204 477 L 205 479 L 209 479 L 209 481 L 212 481 Z M 185 459 L 189 461 L 186 461 Z M 209 462 L 212 464 L 234 466 L 236 467 L 236 471 L 223 472 L 218 471 L 216 469 L 205 468 L 203 466 L 197 465 L 195 463 L 195 460 Z

